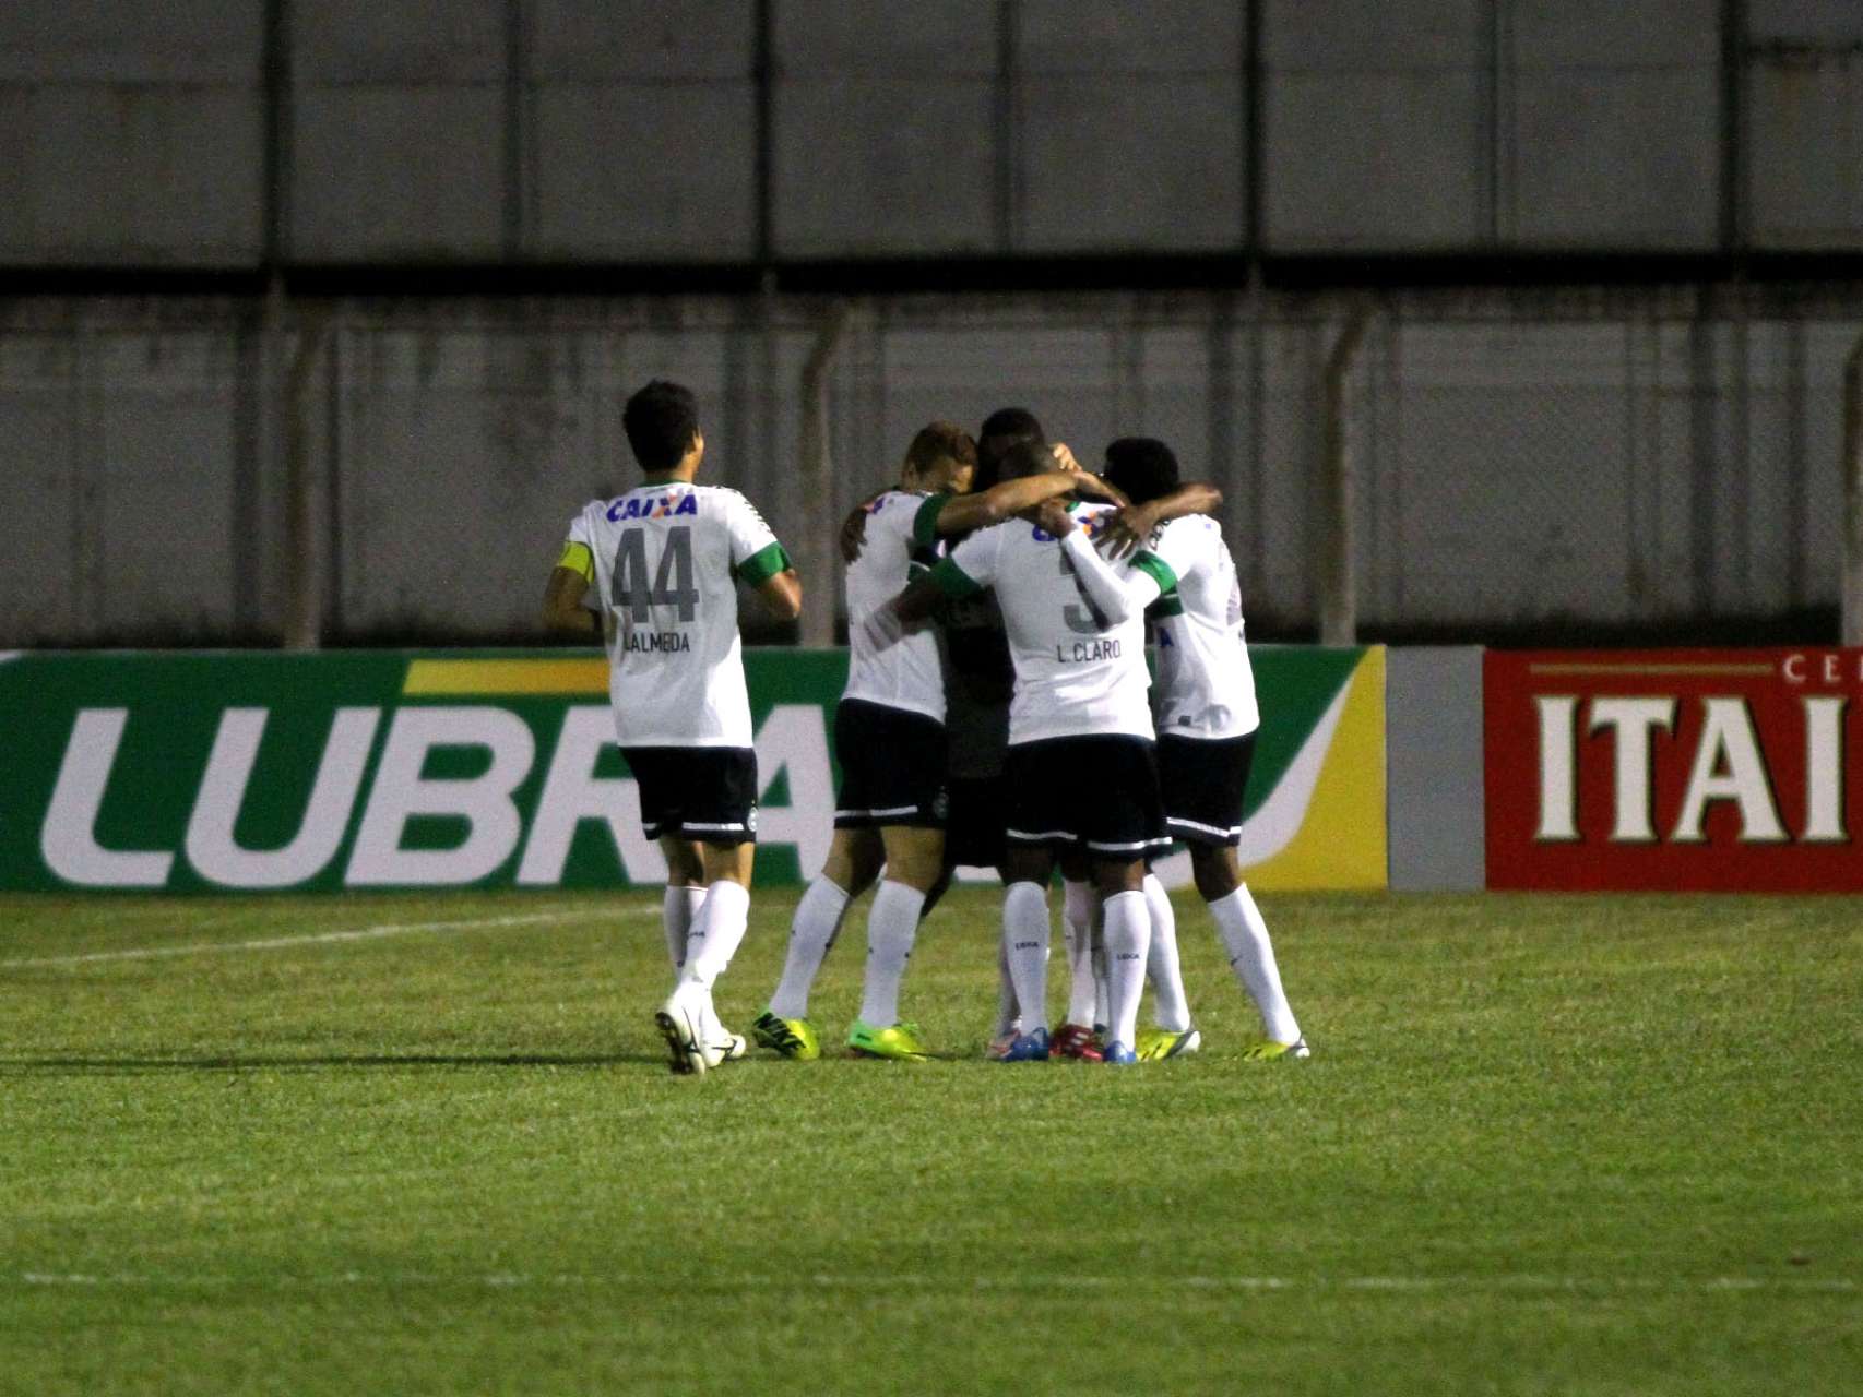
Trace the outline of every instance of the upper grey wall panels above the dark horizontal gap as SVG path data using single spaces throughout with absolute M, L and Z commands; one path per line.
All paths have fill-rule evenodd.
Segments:
M 11 0 L 0 263 L 1857 246 L 1863 7 L 1723 11 Z

